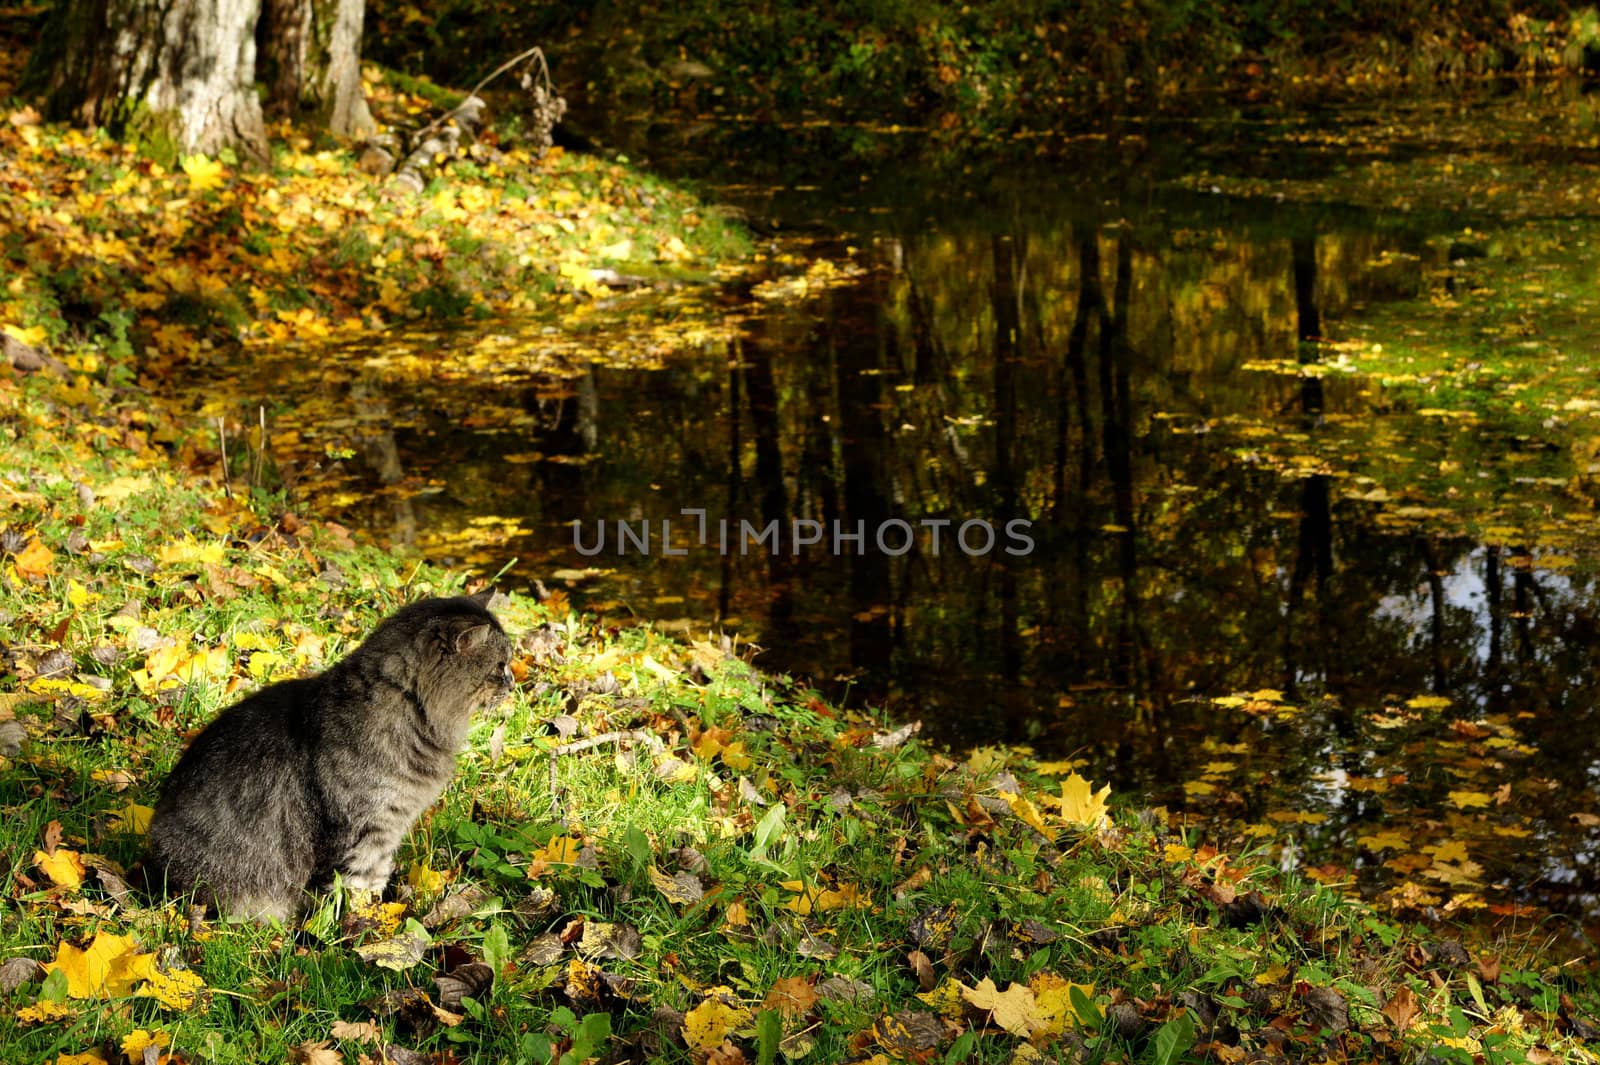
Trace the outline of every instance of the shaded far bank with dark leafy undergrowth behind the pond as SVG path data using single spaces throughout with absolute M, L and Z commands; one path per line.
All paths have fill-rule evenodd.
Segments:
M 507 45 L 506 42 L 514 42 Z M 1102 101 L 1282 93 L 1590 64 L 1594 8 L 1515 3 L 717 3 L 368 6 L 368 51 L 469 82 L 544 45 L 603 107 L 1058 126 Z

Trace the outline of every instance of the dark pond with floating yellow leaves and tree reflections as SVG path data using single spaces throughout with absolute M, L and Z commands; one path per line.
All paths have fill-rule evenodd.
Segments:
M 1594 114 L 616 130 L 762 269 L 218 373 L 291 494 L 430 558 L 1402 911 L 1592 919 Z

